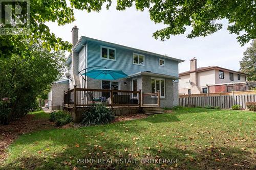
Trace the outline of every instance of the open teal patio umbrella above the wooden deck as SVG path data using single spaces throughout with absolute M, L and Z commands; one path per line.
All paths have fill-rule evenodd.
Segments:
M 92 79 L 101 80 L 116 80 L 127 77 L 127 75 L 122 70 L 115 69 L 92 69 L 88 72 L 84 72 L 82 75 L 88 76 Z

